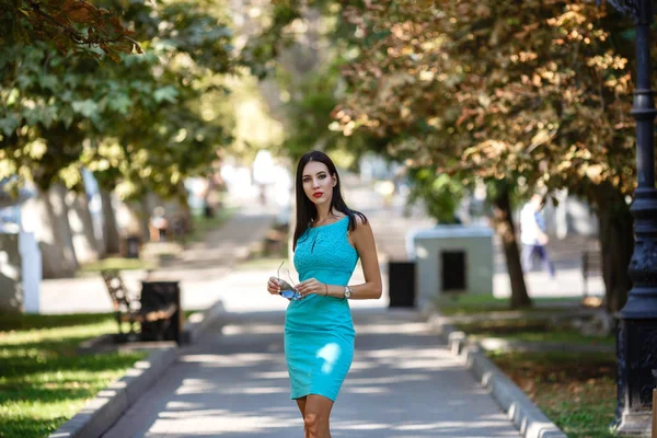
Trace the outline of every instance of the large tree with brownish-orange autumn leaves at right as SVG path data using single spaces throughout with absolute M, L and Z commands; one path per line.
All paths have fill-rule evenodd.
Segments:
M 615 37 L 622 23 L 604 8 L 566 0 L 381 1 L 345 4 L 343 13 L 360 41 L 334 112 L 343 132 L 392 138 L 396 157 L 493 184 L 517 278 L 512 304 L 526 304 L 509 194 L 568 187 L 600 210 L 609 205 L 600 189 L 615 191 L 616 203 L 633 189 L 631 54 Z M 616 278 L 627 262 L 615 260 Z M 607 285 L 610 310 L 624 302 L 623 289 Z

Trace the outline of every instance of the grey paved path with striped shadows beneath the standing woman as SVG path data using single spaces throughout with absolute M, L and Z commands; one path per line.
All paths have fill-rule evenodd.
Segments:
M 356 354 L 333 408 L 334 438 L 519 436 L 416 312 L 359 308 L 354 320 Z M 103 437 L 301 437 L 283 323 L 283 311 L 229 314 L 183 348 Z

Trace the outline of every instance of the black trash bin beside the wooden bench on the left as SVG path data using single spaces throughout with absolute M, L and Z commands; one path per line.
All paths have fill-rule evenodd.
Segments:
M 178 281 L 141 281 L 141 309 L 146 311 L 162 309 L 175 304 L 175 313 L 170 321 L 152 321 L 141 324 L 142 341 L 175 341 L 181 344 L 183 312 L 181 309 L 181 288 Z M 166 324 L 162 333 L 162 324 Z

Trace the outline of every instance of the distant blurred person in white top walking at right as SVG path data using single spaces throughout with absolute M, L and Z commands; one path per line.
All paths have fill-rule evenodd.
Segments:
M 543 197 L 534 194 L 520 211 L 520 242 L 522 243 L 522 269 L 529 272 L 535 257 L 540 258 L 545 270 L 555 277 L 554 264 L 548 255 L 545 245 L 550 238 L 545 233 L 543 218 Z

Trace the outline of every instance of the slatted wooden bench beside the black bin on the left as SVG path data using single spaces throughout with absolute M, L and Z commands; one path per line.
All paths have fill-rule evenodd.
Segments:
M 172 324 L 173 316 L 176 314 L 177 306 L 174 302 L 162 303 L 158 308 L 143 309 L 141 297 L 132 295 L 126 288 L 120 274 L 117 270 L 102 270 L 101 275 L 105 280 L 107 292 L 114 304 L 114 314 L 118 324 L 118 341 L 147 341 L 143 339 L 143 324 L 149 324 L 149 333 L 154 332 L 153 341 L 166 338 L 166 333 Z M 129 323 L 128 333 L 123 332 L 123 323 Z M 139 324 L 139 332 L 135 325 Z M 155 327 L 153 331 L 152 327 Z

